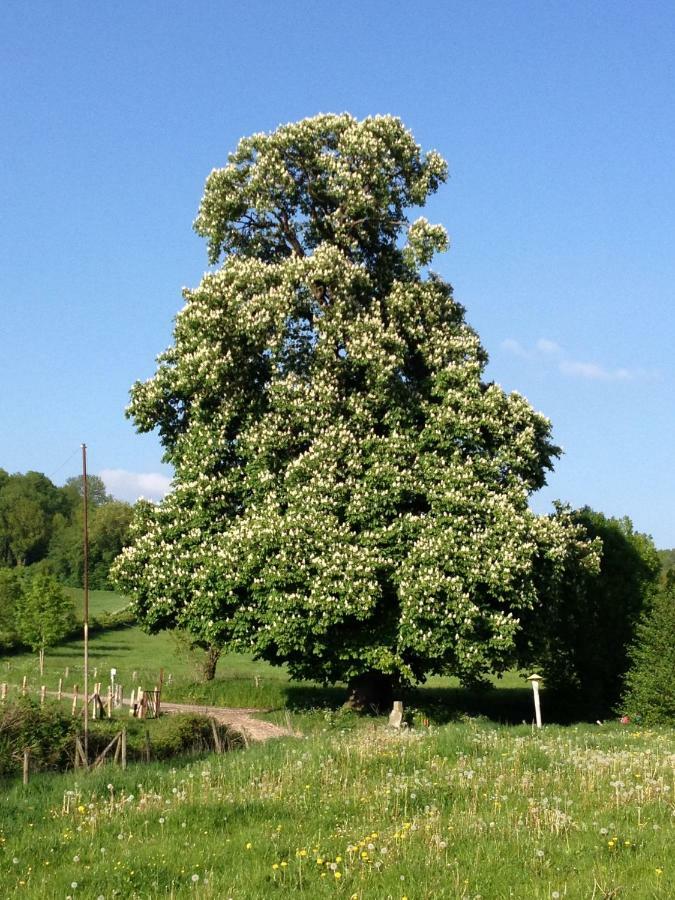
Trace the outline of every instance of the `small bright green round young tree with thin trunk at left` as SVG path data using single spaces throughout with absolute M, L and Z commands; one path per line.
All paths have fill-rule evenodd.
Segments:
M 51 575 L 36 575 L 17 604 L 16 625 L 23 643 L 44 653 L 73 630 L 73 601 Z

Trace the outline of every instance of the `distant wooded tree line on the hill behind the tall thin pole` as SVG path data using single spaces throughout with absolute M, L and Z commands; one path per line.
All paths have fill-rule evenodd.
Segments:
M 89 586 L 105 590 L 111 587 L 110 564 L 127 541 L 132 507 L 106 493 L 96 475 L 87 487 Z M 49 574 L 81 587 L 83 517 L 82 476 L 57 487 L 41 472 L 0 469 L 0 568 Z

